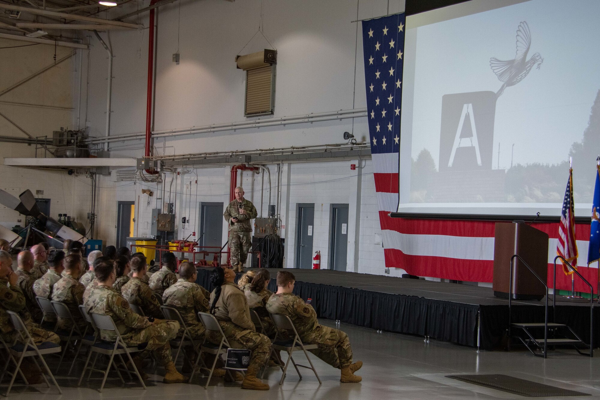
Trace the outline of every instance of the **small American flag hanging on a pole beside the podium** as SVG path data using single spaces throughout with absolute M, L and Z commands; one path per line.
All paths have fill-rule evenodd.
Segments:
M 573 201 L 573 170 L 569 169 L 569 180 L 566 183 L 565 199 L 560 213 L 559 241 L 556 253 L 577 267 L 577 243 L 575 242 L 575 204 Z M 569 275 L 571 268 L 563 262 L 563 271 Z

